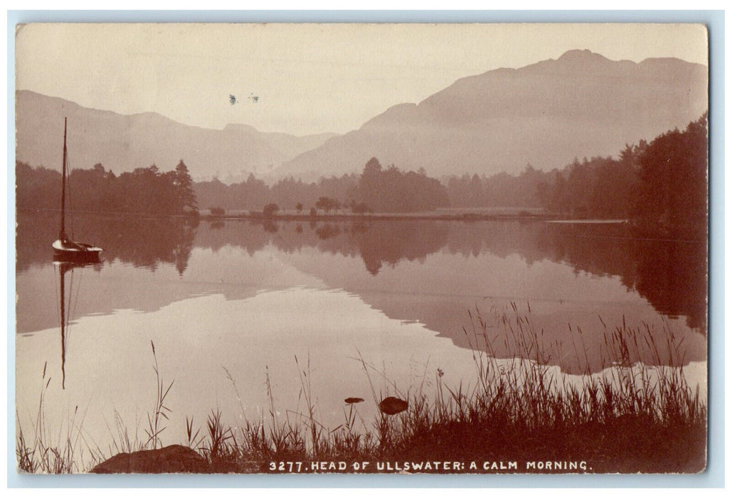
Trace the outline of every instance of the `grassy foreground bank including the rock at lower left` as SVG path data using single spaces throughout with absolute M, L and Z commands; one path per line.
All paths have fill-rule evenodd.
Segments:
M 541 338 L 525 316 L 510 320 L 520 331 L 522 350 L 517 359 L 500 361 L 485 321 L 477 317 L 478 327 L 471 332 L 476 376 L 469 384 L 447 386 L 437 369 L 407 393 L 396 386 L 377 392 L 373 386 L 384 379 L 361 360 L 372 399 L 344 400 L 343 422 L 333 428 L 320 421 L 325 407 L 315 404 L 310 365 L 298 365 L 305 409 L 283 417 L 271 403 L 268 414 L 251 420 L 243 416 L 242 406 L 243 423 L 236 425 L 224 423 L 217 410 L 200 427 L 185 417 L 187 440 L 165 448 L 160 434 L 183 421 L 165 406 L 174 383 L 157 369 L 153 346 L 155 409 L 147 425 L 118 431 L 110 447 L 119 454 L 110 460 L 109 452 L 86 442 L 82 423 L 71 424 L 64 440 L 49 444 L 42 430 L 41 395 L 36 426 L 18 428 L 18 467 L 21 472 L 703 471 L 706 394 L 687 380 L 690 365 L 630 363 L 641 335 L 622 325 L 608 344 L 614 352 L 612 366 L 569 376 L 542 362 Z M 676 351 L 682 349 L 670 332 L 667 340 Z M 266 387 L 272 399 L 269 376 Z M 362 403 L 380 407 L 369 423 L 359 415 Z

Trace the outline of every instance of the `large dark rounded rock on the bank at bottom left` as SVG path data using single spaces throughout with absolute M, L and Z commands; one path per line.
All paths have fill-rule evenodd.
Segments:
M 209 472 L 206 459 L 182 445 L 159 450 L 119 453 L 91 469 L 94 474 L 172 474 L 177 472 Z

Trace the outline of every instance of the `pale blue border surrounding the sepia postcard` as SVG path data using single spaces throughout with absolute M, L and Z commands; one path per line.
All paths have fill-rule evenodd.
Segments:
M 633 22 L 709 28 L 709 466 L 700 475 L 18 475 L 15 471 L 15 24 L 29 22 Z M 8 487 L 722 487 L 724 486 L 723 11 L 9 11 L 7 14 Z M 12 242 L 10 242 L 12 241 Z

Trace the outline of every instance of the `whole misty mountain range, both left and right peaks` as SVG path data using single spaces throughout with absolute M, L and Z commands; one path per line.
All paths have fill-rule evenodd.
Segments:
M 69 116 L 75 166 L 115 172 L 183 159 L 195 179 L 249 174 L 317 180 L 359 173 L 370 157 L 430 176 L 561 168 L 616 155 L 624 144 L 684 127 L 706 111 L 707 67 L 675 58 L 612 61 L 572 50 L 519 68 L 459 78 L 419 103 L 400 103 L 343 135 L 195 127 L 155 112 L 119 114 L 61 97 L 16 92 L 16 158 L 60 169 Z

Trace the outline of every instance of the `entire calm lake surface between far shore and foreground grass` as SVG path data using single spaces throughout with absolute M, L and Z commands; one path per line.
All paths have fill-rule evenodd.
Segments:
M 348 396 L 367 400 L 359 411 L 370 423 L 372 385 L 384 395 L 432 393 L 437 368 L 448 385 L 471 382 L 477 313 L 498 357 L 517 351 L 500 317 L 515 324 L 518 313 L 542 361 L 597 372 L 610 366 L 607 339 L 625 322 L 656 343 L 641 343 L 632 362 L 703 376 L 706 242 L 519 221 L 192 226 L 90 216 L 73 228 L 105 248 L 102 264 L 53 264 L 55 216 L 18 215 L 18 417 L 34 419 L 46 365 L 47 419 L 68 420 L 78 406 L 77 423 L 83 415 L 85 434 L 105 450 L 117 418 L 144 439 L 155 401 L 151 341 L 163 380 L 175 381 L 168 443 L 184 439 L 186 416 L 197 425 L 211 409 L 231 423 L 269 417 L 268 376 L 280 420 L 304 410 L 310 382 L 332 427 Z M 669 333 L 681 344 L 673 352 Z

